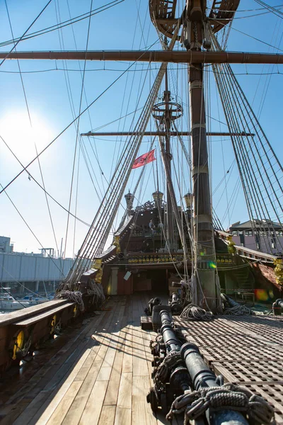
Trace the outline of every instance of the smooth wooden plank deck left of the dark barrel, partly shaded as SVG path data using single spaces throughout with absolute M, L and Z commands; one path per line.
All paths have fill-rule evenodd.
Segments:
M 112 297 L 64 345 L 50 347 L 53 356 L 46 348 L 23 367 L 22 376 L 20 371 L 6 378 L 0 387 L 1 425 L 163 424 L 146 402 L 153 332 L 139 324 L 150 297 Z

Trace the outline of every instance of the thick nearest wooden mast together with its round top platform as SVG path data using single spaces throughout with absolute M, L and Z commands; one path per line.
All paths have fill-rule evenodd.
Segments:
M 217 19 L 233 18 L 233 11 L 238 7 L 238 0 L 229 3 L 230 10 L 226 16 L 225 1 L 214 0 L 210 17 L 214 19 L 214 32 L 219 30 Z M 173 35 L 175 24 L 175 1 L 149 0 L 151 18 L 156 28 L 166 37 Z M 206 0 L 186 0 L 183 21 L 182 41 L 191 58 L 196 52 L 209 49 L 206 40 L 208 31 Z M 216 18 L 216 19 L 215 19 Z M 217 28 L 216 28 L 217 27 Z M 221 27 L 221 26 L 220 26 Z M 179 38 L 180 40 L 180 38 Z M 212 312 L 221 306 L 219 285 L 216 282 L 216 258 L 214 249 L 214 229 L 212 225 L 212 205 L 209 188 L 209 166 L 207 154 L 207 131 L 205 123 L 205 104 L 203 87 L 203 64 L 191 60 L 188 63 L 188 80 L 190 90 L 190 121 L 192 146 L 192 183 L 193 183 L 193 222 L 194 270 L 192 274 L 193 302 L 206 305 Z

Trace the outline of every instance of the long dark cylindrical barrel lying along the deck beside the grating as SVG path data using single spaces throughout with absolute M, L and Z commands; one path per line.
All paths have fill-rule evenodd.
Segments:
M 171 314 L 160 312 L 162 326 L 156 341 L 151 343 L 151 352 L 154 355 L 154 371 L 152 378 L 154 387 L 147 395 L 147 402 L 156 412 L 159 407 L 163 414 L 168 414 L 171 405 L 176 399 L 193 390 L 203 387 L 219 387 L 221 382 L 204 362 L 199 349 L 195 344 L 180 340 L 171 319 Z M 248 421 L 240 412 L 231 409 L 210 409 L 197 417 L 195 425 L 248 425 Z

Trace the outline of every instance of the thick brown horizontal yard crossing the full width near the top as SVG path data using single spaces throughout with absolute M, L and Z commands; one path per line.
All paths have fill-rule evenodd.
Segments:
M 175 62 L 175 63 L 230 63 L 230 64 L 283 64 L 280 53 L 248 52 L 200 52 L 188 50 L 115 50 L 88 52 L 50 51 L 50 52 L 1 52 L 0 59 L 10 60 L 102 60 L 102 61 L 138 61 L 138 62 Z

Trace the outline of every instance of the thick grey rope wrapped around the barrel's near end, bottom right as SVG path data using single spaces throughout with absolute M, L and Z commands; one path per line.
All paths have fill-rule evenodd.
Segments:
M 197 419 L 207 409 L 214 411 L 230 409 L 244 412 L 251 424 L 275 424 L 274 409 L 265 399 L 254 395 L 246 388 L 231 383 L 219 387 L 202 387 L 193 392 L 185 391 L 183 395 L 174 400 L 166 419 L 171 421 L 173 414 L 184 412 L 184 425 L 187 425 L 190 420 Z

